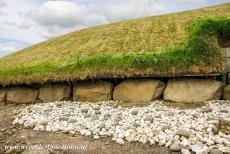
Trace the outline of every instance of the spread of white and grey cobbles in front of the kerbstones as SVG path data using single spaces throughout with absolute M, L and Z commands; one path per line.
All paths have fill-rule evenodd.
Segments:
M 180 110 L 154 101 L 144 107 L 113 107 L 115 102 L 53 102 L 21 109 L 13 124 L 38 131 L 80 133 L 94 139 L 158 144 L 189 154 L 230 152 L 230 135 L 218 130 L 230 119 L 230 102 L 209 101 L 202 108 Z M 217 150 L 218 149 L 218 150 Z

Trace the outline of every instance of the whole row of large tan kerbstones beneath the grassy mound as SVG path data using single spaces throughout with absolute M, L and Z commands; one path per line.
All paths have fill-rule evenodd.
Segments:
M 224 84 L 207 79 L 174 79 L 167 83 L 155 79 L 130 79 L 120 83 L 82 81 L 69 84 L 43 85 L 36 88 L 11 87 L 0 89 L 0 102 L 36 103 L 62 100 L 150 102 L 155 99 L 196 103 L 222 98 Z M 229 88 L 225 88 L 225 99 Z

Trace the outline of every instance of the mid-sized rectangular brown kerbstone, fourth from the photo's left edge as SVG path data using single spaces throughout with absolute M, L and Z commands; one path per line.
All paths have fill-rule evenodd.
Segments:
M 73 100 L 77 101 L 107 101 L 112 99 L 113 85 L 110 82 L 80 82 L 73 88 Z

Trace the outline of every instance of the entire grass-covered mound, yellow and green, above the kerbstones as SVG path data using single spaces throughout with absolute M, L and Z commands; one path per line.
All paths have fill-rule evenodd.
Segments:
M 0 84 L 223 71 L 230 3 L 83 29 L 0 59 Z

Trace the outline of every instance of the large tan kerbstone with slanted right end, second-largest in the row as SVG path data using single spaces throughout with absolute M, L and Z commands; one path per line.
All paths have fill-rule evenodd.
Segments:
M 129 102 L 149 102 L 160 98 L 164 88 L 165 83 L 158 80 L 126 80 L 114 88 L 113 99 Z

